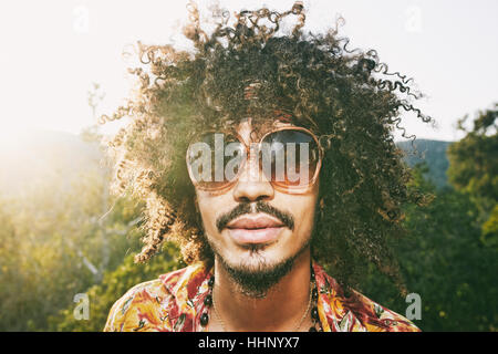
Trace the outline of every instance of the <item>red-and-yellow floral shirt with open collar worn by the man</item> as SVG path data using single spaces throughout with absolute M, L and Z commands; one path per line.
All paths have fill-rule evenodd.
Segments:
M 324 332 L 418 332 L 412 322 L 355 293 L 345 298 L 339 283 L 313 262 L 319 289 L 318 311 Z M 105 332 L 196 332 L 212 269 L 195 263 L 141 283 L 111 309 Z M 354 300 L 352 300 L 354 299 Z

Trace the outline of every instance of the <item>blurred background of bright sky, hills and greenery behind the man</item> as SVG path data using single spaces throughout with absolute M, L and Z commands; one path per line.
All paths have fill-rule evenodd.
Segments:
M 0 3 L 0 331 L 102 331 L 108 310 L 138 282 L 184 267 L 166 244 L 148 264 L 139 200 L 108 194 L 96 124 L 128 94 L 136 41 L 189 48 L 187 1 L 45 0 Z M 212 1 L 198 1 L 208 17 Z M 232 13 L 262 1 L 219 1 Z M 284 11 L 293 0 L 271 1 Z M 304 1 L 304 30 L 341 14 L 351 48 L 375 49 L 425 97 L 436 126 L 407 116 L 396 133 L 417 188 L 397 249 L 423 331 L 498 330 L 498 2 Z M 419 152 L 413 154 L 413 148 Z M 360 289 L 405 315 L 409 303 L 373 269 Z

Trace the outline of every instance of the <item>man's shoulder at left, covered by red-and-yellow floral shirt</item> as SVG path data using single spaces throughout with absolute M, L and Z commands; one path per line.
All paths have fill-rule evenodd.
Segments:
M 104 332 L 169 331 L 177 285 L 197 268 L 188 266 L 131 288 L 111 308 Z

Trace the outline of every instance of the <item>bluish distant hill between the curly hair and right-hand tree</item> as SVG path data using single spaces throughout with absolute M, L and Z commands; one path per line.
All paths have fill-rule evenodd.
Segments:
M 449 162 L 446 152 L 452 142 L 416 139 L 414 148 L 412 142 L 400 142 L 396 145 L 405 152 L 405 162 L 413 167 L 418 163 L 425 162 L 429 168 L 425 176 L 437 188 L 443 188 L 448 185 L 446 170 L 449 167 Z

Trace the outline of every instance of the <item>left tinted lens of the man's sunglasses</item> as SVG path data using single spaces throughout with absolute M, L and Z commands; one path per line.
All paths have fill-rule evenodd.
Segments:
M 245 153 L 245 146 L 231 135 L 205 134 L 187 150 L 190 178 L 200 188 L 220 189 L 237 178 Z

